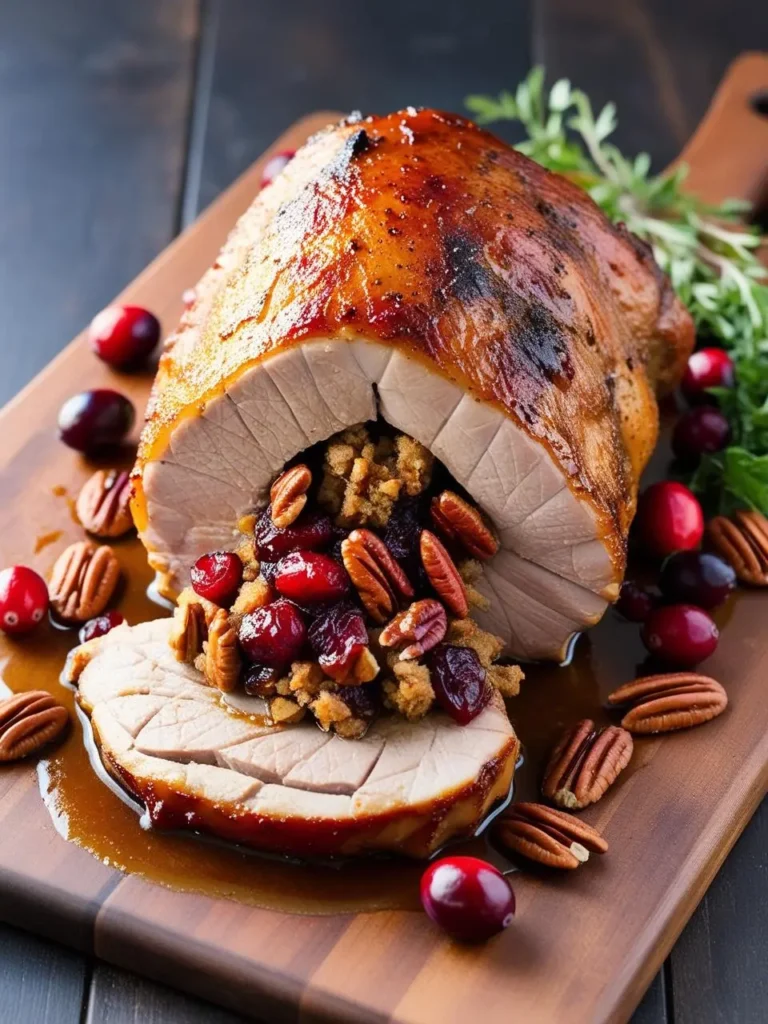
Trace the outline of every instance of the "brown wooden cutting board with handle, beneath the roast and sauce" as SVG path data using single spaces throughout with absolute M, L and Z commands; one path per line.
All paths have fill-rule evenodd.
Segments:
M 686 148 L 689 185 L 707 199 L 768 198 L 768 119 L 754 103 L 760 93 L 765 103 L 768 57 L 744 56 Z M 273 150 L 296 147 L 334 117 L 305 118 Z M 264 159 L 120 300 L 175 323 L 183 289 L 256 194 Z M 150 382 L 145 374 L 116 383 L 81 336 L 0 414 L 0 563 L 49 571 L 58 551 L 82 536 L 67 496 L 88 468 L 55 438 L 61 402 L 84 387 L 117 386 L 142 409 Z M 135 586 L 129 582 L 129 605 Z M 752 593 L 720 615 L 723 637 L 707 669 L 726 683 L 728 712 L 702 729 L 638 743 L 631 770 L 586 815 L 604 829 L 609 855 L 572 877 L 517 876 L 516 921 L 484 946 L 453 944 L 412 909 L 299 915 L 123 874 L 61 838 L 27 764 L 0 771 L 0 916 L 270 1021 L 625 1020 L 766 792 L 767 611 L 768 597 Z M 589 712 L 600 690 L 585 680 L 625 681 L 614 677 L 615 644 L 603 637 L 628 629 L 609 613 L 582 640 L 559 689 L 547 680 L 549 690 L 542 683 L 541 696 L 531 689 L 524 699 L 551 703 L 554 721 L 558 694 L 571 690 Z M 13 666 L 40 642 L 0 639 L 11 685 Z M 631 671 L 627 657 L 621 664 Z M 523 723 L 521 712 L 525 741 Z M 63 830 L 60 817 L 57 825 Z M 206 848 L 199 849 L 205 857 Z M 301 907 L 301 899 L 294 902 Z M 306 907 L 314 905 L 307 900 Z

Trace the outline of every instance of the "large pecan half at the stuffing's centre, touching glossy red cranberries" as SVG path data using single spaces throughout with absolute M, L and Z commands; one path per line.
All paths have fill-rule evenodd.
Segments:
M 414 596 L 414 588 L 389 548 L 370 529 L 353 529 L 342 541 L 341 558 L 375 623 L 385 623 L 399 598 Z

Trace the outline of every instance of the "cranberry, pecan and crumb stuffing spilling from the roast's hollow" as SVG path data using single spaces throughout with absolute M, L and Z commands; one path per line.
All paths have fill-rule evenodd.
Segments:
M 234 552 L 204 555 L 170 643 L 222 691 L 263 698 L 271 722 L 311 716 L 349 739 L 381 713 L 439 707 L 471 721 L 523 678 L 471 617 L 498 542 L 431 453 L 380 423 L 314 445 L 240 523 Z

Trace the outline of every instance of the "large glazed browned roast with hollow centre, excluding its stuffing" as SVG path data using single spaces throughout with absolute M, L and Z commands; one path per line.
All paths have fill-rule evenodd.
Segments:
M 296 453 L 380 416 L 496 525 L 481 625 L 560 658 L 617 595 L 692 341 L 650 250 L 565 178 L 435 111 L 343 122 L 257 197 L 162 357 L 134 508 L 161 590 Z

